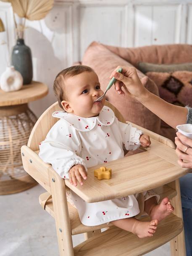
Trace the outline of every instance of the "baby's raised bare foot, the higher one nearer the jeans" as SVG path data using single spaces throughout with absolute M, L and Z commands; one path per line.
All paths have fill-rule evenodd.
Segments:
M 163 200 L 158 205 L 154 205 L 150 212 L 151 219 L 161 220 L 165 219 L 166 216 L 171 214 L 174 211 L 174 207 L 171 205 L 169 199 L 163 198 Z

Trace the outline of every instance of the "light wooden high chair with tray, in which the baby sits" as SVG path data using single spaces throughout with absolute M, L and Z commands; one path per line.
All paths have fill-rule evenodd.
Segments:
M 113 109 L 116 117 L 124 122 L 114 106 L 107 101 L 105 105 Z M 21 155 L 25 171 L 47 190 L 39 196 L 39 203 L 55 218 L 60 256 L 140 256 L 168 241 L 171 243 L 172 256 L 186 256 L 178 178 L 187 174 L 188 169 L 177 164 L 174 143 L 133 124 L 150 135 L 151 146 L 133 156 L 89 168 L 84 185 L 74 187 L 68 180 L 60 178 L 52 166 L 45 164 L 38 156 L 39 143 L 58 121 L 52 117 L 52 113 L 58 110 L 58 103 L 54 103 L 42 114 L 32 130 L 28 145 L 21 147 Z M 94 177 L 94 169 L 103 165 L 112 169 L 112 178 L 99 181 Z M 152 238 L 140 239 L 112 224 L 84 226 L 76 208 L 66 200 L 68 188 L 87 202 L 104 201 L 155 189 L 161 199 L 165 196 L 171 199 L 175 211 L 160 222 Z M 104 227 L 108 229 L 101 232 Z M 86 240 L 73 248 L 72 235 L 80 233 L 85 233 Z

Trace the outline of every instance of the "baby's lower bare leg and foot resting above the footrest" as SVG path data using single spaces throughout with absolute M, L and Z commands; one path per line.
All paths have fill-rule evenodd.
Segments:
M 142 222 L 134 217 L 127 219 L 118 219 L 111 222 L 116 227 L 120 227 L 122 230 L 126 230 L 136 234 L 139 238 L 151 237 L 155 233 L 158 220 L 152 220 L 150 222 Z

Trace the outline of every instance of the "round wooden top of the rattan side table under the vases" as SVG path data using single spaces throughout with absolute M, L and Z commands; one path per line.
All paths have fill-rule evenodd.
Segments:
M 25 104 L 43 98 L 48 93 L 48 87 L 41 82 L 32 81 L 18 91 L 4 92 L 0 90 L 0 107 Z

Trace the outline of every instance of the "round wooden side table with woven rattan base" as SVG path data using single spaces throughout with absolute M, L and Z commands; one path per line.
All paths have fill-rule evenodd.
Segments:
M 37 117 L 28 102 L 43 98 L 47 85 L 32 82 L 21 90 L 0 90 L 0 195 L 29 189 L 37 184 L 22 166 L 21 146 L 27 145 Z

